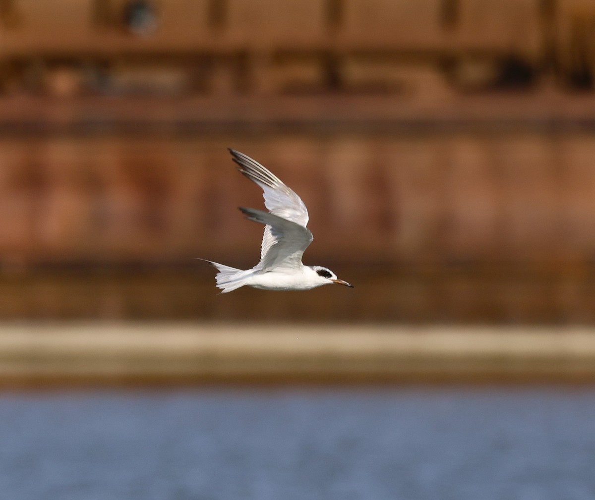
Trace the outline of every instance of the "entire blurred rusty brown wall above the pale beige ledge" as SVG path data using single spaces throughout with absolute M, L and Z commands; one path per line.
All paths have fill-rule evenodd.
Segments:
M 595 319 L 587 0 L 2 0 L 0 68 L 5 319 Z M 262 229 L 226 147 L 355 293 L 215 296 Z

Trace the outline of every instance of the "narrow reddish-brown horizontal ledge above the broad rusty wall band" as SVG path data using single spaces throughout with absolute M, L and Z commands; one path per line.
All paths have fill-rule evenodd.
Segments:
M 262 134 L 575 134 L 595 130 L 590 94 L 239 95 L 0 99 L 0 136 L 262 137 Z

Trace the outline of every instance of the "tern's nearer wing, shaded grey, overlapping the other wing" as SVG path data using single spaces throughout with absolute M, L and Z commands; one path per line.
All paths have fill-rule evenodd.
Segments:
M 271 244 L 258 264 L 259 269 L 269 271 L 273 268 L 301 267 L 303 251 L 314 239 L 309 229 L 263 210 L 244 207 L 240 210 L 247 219 L 265 224 L 270 231 Z

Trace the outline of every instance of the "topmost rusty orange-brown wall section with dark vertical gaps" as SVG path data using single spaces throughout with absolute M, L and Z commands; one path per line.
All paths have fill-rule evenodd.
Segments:
M 133 3 L 2 2 L 0 89 L 402 93 L 415 75 L 434 90 L 593 88 L 588 0 L 146 0 L 145 29 L 126 22 Z

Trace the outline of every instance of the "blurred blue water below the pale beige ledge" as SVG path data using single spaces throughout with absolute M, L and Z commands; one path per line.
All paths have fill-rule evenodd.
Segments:
M 10 500 L 595 498 L 595 388 L 0 396 Z

